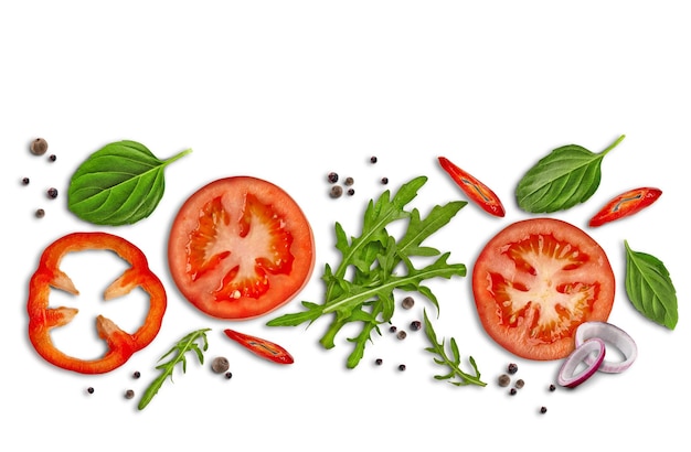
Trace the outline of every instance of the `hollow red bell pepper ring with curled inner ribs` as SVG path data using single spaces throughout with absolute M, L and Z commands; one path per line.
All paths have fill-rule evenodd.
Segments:
M 110 300 L 125 295 L 141 287 L 149 294 L 149 312 L 143 324 L 129 334 L 120 330 L 113 321 L 98 315 L 96 331 L 108 349 L 97 359 L 81 359 L 61 352 L 51 340 L 51 330 L 63 326 L 77 314 L 74 308 L 49 308 L 51 288 L 78 294 L 74 283 L 60 269 L 62 258 L 73 251 L 105 249 L 115 251 L 130 263 L 130 268 L 116 279 L 104 292 L 104 299 Z M 29 283 L 29 338 L 34 348 L 49 363 L 81 374 L 105 374 L 125 364 L 134 353 L 146 347 L 158 334 L 167 298 L 163 284 L 149 269 L 143 252 L 131 243 L 107 233 L 73 233 L 59 238 L 43 251 L 39 267 Z

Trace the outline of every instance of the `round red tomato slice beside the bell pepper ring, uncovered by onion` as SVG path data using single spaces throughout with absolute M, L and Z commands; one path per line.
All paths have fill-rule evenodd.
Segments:
M 287 303 L 315 267 L 315 239 L 298 204 L 251 176 L 220 179 L 176 216 L 168 263 L 178 289 L 202 312 L 245 320 Z

